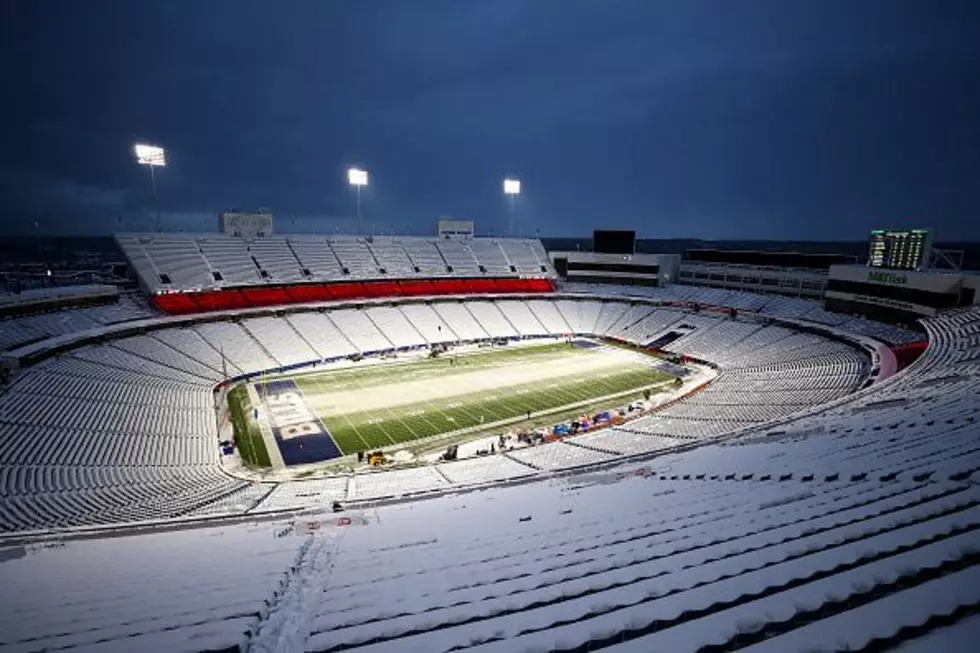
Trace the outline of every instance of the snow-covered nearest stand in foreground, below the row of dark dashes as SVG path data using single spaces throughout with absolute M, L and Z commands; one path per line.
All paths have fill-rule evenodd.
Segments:
M 922 650 L 980 604 L 975 485 L 671 478 L 39 545 L 0 565 L 0 630 L 18 650 Z

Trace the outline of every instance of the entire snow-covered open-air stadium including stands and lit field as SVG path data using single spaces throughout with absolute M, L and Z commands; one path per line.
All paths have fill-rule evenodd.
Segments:
M 980 606 L 980 308 L 252 217 L 4 297 L 0 650 L 940 650 Z

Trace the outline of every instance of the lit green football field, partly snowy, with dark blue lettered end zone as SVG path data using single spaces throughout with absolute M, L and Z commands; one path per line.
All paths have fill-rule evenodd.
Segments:
M 642 354 L 581 344 L 591 345 L 508 346 L 354 366 L 260 382 L 255 391 L 283 458 L 295 464 L 638 393 L 671 378 Z M 329 442 L 317 449 L 314 436 L 329 438 L 336 450 Z

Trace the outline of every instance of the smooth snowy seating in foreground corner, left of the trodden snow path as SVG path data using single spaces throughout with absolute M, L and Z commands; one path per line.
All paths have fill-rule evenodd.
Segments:
M 282 524 L 238 525 L 39 546 L 0 571 L 3 643 L 25 651 L 237 649 L 296 559 L 302 540 L 276 537 L 283 532 Z

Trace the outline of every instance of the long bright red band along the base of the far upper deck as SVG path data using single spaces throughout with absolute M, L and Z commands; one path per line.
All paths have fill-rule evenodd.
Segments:
M 294 286 L 259 286 L 163 293 L 153 296 L 156 307 L 169 315 L 186 315 L 262 306 L 375 297 L 420 297 L 483 293 L 553 292 L 550 279 L 423 279 L 310 283 Z

